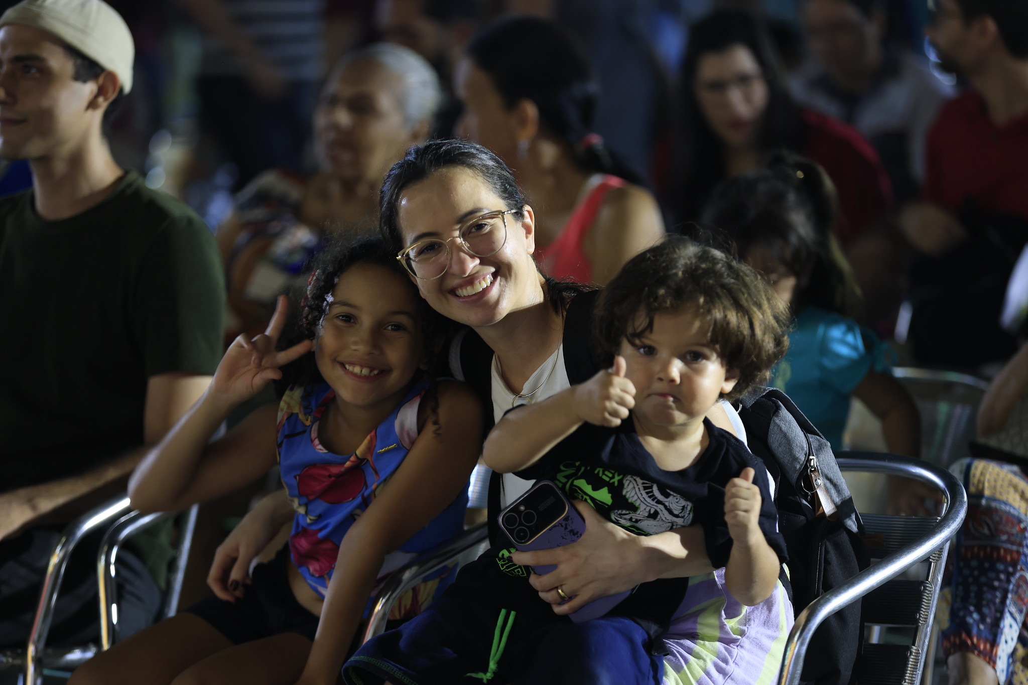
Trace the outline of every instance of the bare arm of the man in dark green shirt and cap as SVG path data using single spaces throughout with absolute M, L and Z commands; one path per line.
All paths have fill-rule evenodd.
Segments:
M 150 447 L 164 436 L 210 383 L 210 376 L 182 373 L 152 376 L 143 410 L 144 445 L 85 473 L 28 486 L 0 495 L 0 539 L 59 507 L 85 498 L 104 486 L 127 479 Z M 90 502 L 91 503 L 91 502 Z

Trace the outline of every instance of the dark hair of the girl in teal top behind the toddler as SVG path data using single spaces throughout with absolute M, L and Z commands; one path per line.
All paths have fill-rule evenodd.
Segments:
M 799 279 L 793 311 L 812 305 L 853 316 L 860 292 L 834 235 L 835 186 L 816 162 L 786 151 L 719 186 L 703 224 L 725 231 L 741 258 L 765 248 Z

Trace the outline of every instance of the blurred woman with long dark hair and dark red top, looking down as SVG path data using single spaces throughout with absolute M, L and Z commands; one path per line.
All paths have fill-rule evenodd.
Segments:
M 883 219 L 892 195 L 878 155 L 840 121 L 797 107 L 760 21 L 743 11 L 709 14 L 690 30 L 682 67 L 677 219 L 695 221 L 713 188 L 787 148 L 824 167 L 839 193 L 836 234 L 847 244 Z

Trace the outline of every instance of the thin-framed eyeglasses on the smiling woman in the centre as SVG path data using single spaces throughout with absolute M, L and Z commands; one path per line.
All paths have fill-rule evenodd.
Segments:
M 450 240 L 460 240 L 464 251 L 474 257 L 488 257 L 500 252 L 507 242 L 507 215 L 515 212 L 517 210 L 487 212 L 466 222 L 456 235 L 445 240 L 418 240 L 396 258 L 415 278 L 433 280 L 449 268 Z

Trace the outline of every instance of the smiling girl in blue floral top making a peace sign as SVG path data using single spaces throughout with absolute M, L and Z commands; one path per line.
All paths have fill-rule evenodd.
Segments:
M 300 307 L 301 342 L 277 350 L 285 306 L 281 298 L 265 334 L 235 339 L 128 488 L 137 508 L 174 510 L 232 492 L 278 461 L 284 492 L 245 520 L 260 531 L 256 549 L 237 549 L 234 564 L 219 549 L 227 564 L 212 569 L 215 597 L 87 661 L 73 685 L 334 682 L 373 586 L 464 529 L 482 410 L 467 386 L 427 373 L 443 319 L 393 251 L 377 237 L 329 245 Z M 211 442 L 272 380 L 289 385 L 281 402 Z M 289 543 L 248 574 L 290 520 Z M 415 586 L 393 617 L 417 614 L 446 580 Z

